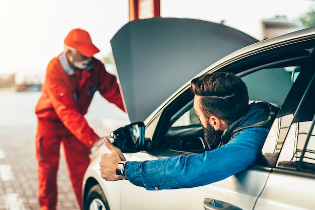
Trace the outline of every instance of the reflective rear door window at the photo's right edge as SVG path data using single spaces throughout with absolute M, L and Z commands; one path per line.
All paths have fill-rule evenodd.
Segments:
M 293 118 L 277 167 L 315 172 L 314 92 L 312 83 Z

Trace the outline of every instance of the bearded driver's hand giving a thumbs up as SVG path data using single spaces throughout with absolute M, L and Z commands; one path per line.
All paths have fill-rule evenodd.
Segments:
M 120 149 L 116 148 L 107 137 L 104 139 L 105 146 L 112 152 L 110 154 L 103 154 L 101 156 L 100 172 L 101 177 L 106 179 L 107 181 L 117 181 L 120 178 L 116 175 L 116 167 L 120 161 L 125 161 L 125 157 L 123 156 Z

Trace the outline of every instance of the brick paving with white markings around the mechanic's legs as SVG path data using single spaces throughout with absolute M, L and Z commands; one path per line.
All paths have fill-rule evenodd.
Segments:
M 34 127 L 0 129 L 1 210 L 39 209 L 34 136 Z M 58 209 L 78 209 L 63 155 L 58 191 Z

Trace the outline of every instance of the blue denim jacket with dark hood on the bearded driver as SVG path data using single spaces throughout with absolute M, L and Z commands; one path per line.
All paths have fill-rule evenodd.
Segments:
M 128 180 L 147 190 L 191 188 L 223 180 L 255 163 L 277 114 L 269 103 L 252 103 L 223 132 L 223 145 L 198 155 L 129 162 Z

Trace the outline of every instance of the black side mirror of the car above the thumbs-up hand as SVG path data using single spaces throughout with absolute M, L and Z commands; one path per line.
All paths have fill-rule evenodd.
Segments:
M 143 149 L 145 126 L 143 122 L 133 122 L 114 130 L 110 134 L 113 145 L 123 153 L 137 153 Z

